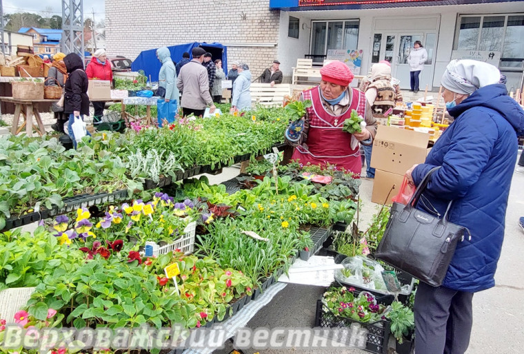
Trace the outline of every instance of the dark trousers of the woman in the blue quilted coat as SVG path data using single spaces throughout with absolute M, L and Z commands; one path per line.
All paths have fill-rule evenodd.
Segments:
M 415 353 L 463 354 L 470 345 L 473 293 L 423 282 L 415 295 Z

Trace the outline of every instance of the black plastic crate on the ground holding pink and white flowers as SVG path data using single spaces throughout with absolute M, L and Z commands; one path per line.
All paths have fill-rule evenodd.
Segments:
M 390 322 L 380 320 L 373 323 L 361 323 L 347 317 L 336 316 L 327 309 L 322 298 L 316 300 L 315 326 L 328 328 L 350 327 L 351 324 L 360 324 L 367 329 L 365 351 L 377 354 L 387 354 L 387 342 L 390 340 Z

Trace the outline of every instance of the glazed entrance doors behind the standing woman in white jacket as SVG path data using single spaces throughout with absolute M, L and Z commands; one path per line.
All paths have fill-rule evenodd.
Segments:
M 399 79 L 401 88 L 410 90 L 410 65 L 407 56 L 413 49 L 413 43 L 421 41 L 427 51 L 427 61 L 420 74 L 420 88 L 425 90 L 428 85 L 432 89 L 434 72 L 434 47 L 436 44 L 435 32 L 381 32 L 373 36 L 372 63 L 387 60 L 391 63 L 391 74 Z

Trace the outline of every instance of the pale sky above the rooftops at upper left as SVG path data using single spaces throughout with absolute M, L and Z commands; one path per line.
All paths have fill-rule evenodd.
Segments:
M 2 0 L 3 12 L 6 14 L 12 12 L 33 12 L 42 15 L 46 8 L 51 9 L 50 16 L 58 14 L 62 16 L 62 1 L 61 0 Z M 104 3 L 105 0 L 83 0 L 83 18 L 92 17 L 94 10 L 95 21 L 100 21 L 104 18 Z M 46 16 L 47 13 L 44 13 Z

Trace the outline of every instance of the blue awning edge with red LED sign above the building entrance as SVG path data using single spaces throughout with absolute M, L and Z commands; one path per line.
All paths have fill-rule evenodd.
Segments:
M 416 6 L 471 5 L 506 3 L 524 0 L 270 0 L 270 10 L 368 10 L 377 8 L 411 8 Z

